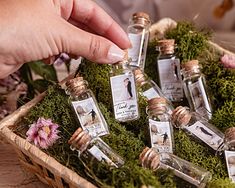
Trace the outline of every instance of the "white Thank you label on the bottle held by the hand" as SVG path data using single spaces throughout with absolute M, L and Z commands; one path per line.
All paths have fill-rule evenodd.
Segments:
M 139 111 L 133 73 L 110 77 L 110 83 L 115 119 L 137 118 Z

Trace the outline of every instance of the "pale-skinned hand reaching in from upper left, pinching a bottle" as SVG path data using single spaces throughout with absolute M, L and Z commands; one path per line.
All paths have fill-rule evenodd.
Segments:
M 125 32 L 91 0 L 0 1 L 0 78 L 61 52 L 115 63 L 128 47 Z

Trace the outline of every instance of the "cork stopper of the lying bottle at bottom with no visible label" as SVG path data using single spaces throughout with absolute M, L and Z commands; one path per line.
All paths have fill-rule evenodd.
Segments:
M 160 165 L 160 155 L 153 148 L 146 147 L 141 152 L 139 161 L 144 168 L 156 170 Z

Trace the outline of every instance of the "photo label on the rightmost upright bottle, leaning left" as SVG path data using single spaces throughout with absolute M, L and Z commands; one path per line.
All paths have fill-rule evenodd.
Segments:
M 188 87 L 195 111 L 211 119 L 211 106 L 208 101 L 202 77 L 200 77 L 197 82 L 188 85 Z

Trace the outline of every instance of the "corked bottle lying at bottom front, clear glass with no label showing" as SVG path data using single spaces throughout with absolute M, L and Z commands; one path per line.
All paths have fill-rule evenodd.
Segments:
M 211 179 L 210 172 L 183 160 L 171 153 L 158 153 L 154 148 L 146 147 L 140 154 L 140 162 L 144 168 L 152 170 L 171 169 L 173 173 L 183 180 L 203 188 Z

